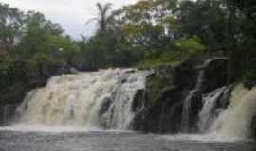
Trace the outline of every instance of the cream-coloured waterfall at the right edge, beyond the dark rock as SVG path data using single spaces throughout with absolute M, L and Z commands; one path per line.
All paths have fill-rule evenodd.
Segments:
M 237 138 L 251 137 L 251 121 L 256 115 L 256 88 L 247 90 L 238 85 L 229 101 L 228 109 L 220 113 L 210 132 Z

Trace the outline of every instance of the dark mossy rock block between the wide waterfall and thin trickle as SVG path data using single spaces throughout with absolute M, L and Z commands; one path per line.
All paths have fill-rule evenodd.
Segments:
M 179 130 L 183 100 L 195 85 L 196 71 L 191 63 L 155 68 L 148 76 L 143 97 L 137 96 L 135 103 L 140 109 L 134 119 L 133 128 L 145 132 L 174 133 Z

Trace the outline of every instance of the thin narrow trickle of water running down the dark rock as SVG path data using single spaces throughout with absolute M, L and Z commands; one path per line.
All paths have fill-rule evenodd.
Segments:
M 188 96 L 185 98 L 185 101 L 183 103 L 181 115 L 181 130 L 183 132 L 190 131 L 190 112 L 192 106 L 192 99 L 198 92 L 201 91 L 204 82 L 205 68 L 210 64 L 211 61 L 212 59 L 208 59 L 204 62 L 202 66 L 198 67 L 200 71 L 197 76 L 195 88 L 189 92 Z

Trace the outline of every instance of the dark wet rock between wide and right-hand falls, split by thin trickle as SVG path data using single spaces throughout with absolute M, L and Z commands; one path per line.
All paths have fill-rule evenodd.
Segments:
M 204 69 L 198 69 L 201 63 L 189 59 L 175 67 L 155 68 L 155 73 L 148 76 L 146 90 L 137 93 L 133 129 L 156 133 L 179 132 L 184 100 L 195 88 L 200 70 L 205 70 L 203 87 L 192 96 L 189 123 L 191 131 L 196 131 L 203 94 L 228 82 L 227 59 L 213 59 Z

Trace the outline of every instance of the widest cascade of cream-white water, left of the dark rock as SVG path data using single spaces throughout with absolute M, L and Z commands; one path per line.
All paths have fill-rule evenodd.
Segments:
M 54 76 L 45 88 L 27 94 L 18 123 L 126 129 L 134 117 L 134 96 L 144 89 L 148 74 L 135 69 L 109 69 Z

